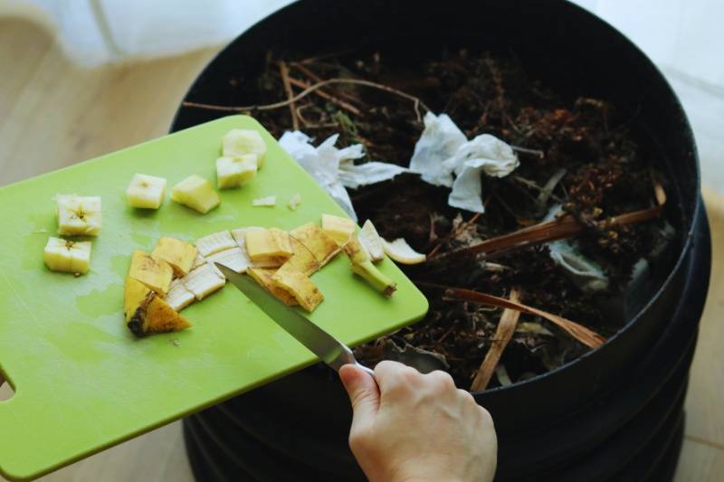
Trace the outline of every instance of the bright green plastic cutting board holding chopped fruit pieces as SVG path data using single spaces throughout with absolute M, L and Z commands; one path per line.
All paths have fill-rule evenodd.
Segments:
M 253 128 L 267 142 L 254 181 L 221 192 L 201 215 L 168 198 L 138 211 L 125 190 L 135 173 L 215 181 L 214 160 L 231 128 Z M 287 207 L 301 195 L 296 211 Z M 102 231 L 92 239 L 90 271 L 80 278 L 43 265 L 55 235 L 55 194 L 100 195 Z M 276 194 L 277 205 L 252 207 Z M 291 229 L 342 210 L 252 118 L 232 116 L 0 188 L 0 370 L 14 397 L 0 402 L 0 473 L 39 477 L 315 363 L 306 348 L 236 289 L 220 290 L 184 310 L 192 329 L 136 339 L 121 313 L 133 250 L 160 236 L 193 241 L 242 226 Z M 398 284 L 385 298 L 338 256 L 313 277 L 325 301 L 310 318 L 357 345 L 424 316 L 427 301 L 390 260 L 380 269 Z

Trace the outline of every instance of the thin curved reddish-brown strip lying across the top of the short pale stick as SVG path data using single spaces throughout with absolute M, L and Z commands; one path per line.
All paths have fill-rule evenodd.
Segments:
M 547 311 L 543 311 L 542 309 L 529 307 L 510 299 L 495 297 L 487 293 L 481 293 L 480 291 L 472 291 L 471 289 L 463 288 L 447 288 L 443 298 L 472 301 L 473 303 L 481 303 L 482 305 L 489 305 L 491 307 L 517 309 L 521 313 L 546 318 L 554 325 L 557 325 L 559 328 L 566 331 L 568 335 L 573 336 L 576 340 L 591 348 L 603 345 L 605 342 L 605 338 L 603 336 L 600 336 L 595 333 L 595 331 L 586 328 L 586 326 L 577 324 L 575 321 L 571 321 L 564 317 L 558 317 L 557 315 L 553 315 Z

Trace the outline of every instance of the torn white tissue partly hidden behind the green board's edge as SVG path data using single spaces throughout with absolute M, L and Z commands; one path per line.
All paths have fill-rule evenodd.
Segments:
M 360 185 L 375 184 L 408 171 L 399 165 L 367 162 L 355 165 L 355 159 L 365 156 L 361 144 L 343 149 L 334 145 L 338 134 L 328 137 L 315 147 L 311 138 L 299 130 L 285 132 L 279 139 L 280 146 L 289 153 L 324 188 L 332 199 L 357 221 L 357 213 L 346 187 L 357 189 Z

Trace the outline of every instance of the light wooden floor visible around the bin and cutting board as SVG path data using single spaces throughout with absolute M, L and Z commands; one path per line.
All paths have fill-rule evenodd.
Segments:
M 179 99 L 213 55 L 203 51 L 83 71 L 69 64 L 42 30 L 0 20 L 0 184 L 163 135 Z M 714 268 L 686 401 L 678 482 L 724 478 L 724 197 L 706 193 L 706 201 Z M 0 399 L 4 390 L 6 385 Z M 177 422 L 42 478 L 192 479 Z

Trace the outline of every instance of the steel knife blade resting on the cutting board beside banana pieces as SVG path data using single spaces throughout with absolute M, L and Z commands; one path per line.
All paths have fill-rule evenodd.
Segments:
M 319 356 L 319 359 L 330 367 L 339 371 L 344 364 L 356 364 L 362 370 L 373 377 L 375 373 L 362 364 L 357 363 L 355 355 L 348 345 L 343 344 L 334 336 L 329 335 L 319 326 L 312 323 L 307 317 L 303 317 L 295 309 L 288 307 L 279 299 L 274 298 L 256 281 L 248 276 L 225 267 L 223 264 L 214 263 L 226 279 L 233 286 L 239 289 L 246 298 L 259 307 L 267 317 L 270 317 L 277 325 L 281 326 L 291 336 L 297 339 L 300 344 L 307 347 L 311 353 Z

